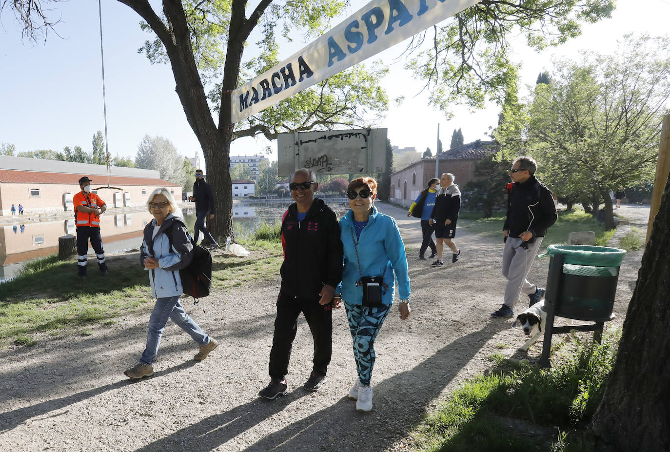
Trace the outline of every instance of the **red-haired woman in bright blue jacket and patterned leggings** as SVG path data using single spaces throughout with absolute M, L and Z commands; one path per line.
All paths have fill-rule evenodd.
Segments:
M 351 210 L 340 220 L 340 239 L 344 246 L 344 272 L 336 293 L 344 301 L 346 317 L 353 339 L 354 358 L 358 370 L 356 383 L 349 397 L 356 400 L 356 409 L 373 408 L 373 388 L 370 386 L 375 365 L 375 338 L 391 310 L 394 277 L 400 292 L 400 318 L 409 317 L 409 277 L 405 245 L 395 219 L 379 213 L 373 203 L 377 198 L 377 181 L 372 177 L 354 179 L 347 187 Z M 366 277 L 381 277 L 383 284 L 369 286 L 369 299 L 379 297 L 377 307 L 363 304 L 361 281 Z M 381 289 L 381 290 L 379 290 Z M 380 296 L 381 295 L 381 296 Z

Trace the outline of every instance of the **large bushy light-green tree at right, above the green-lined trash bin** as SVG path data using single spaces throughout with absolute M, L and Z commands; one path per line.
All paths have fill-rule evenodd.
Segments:
M 604 202 L 610 190 L 653 179 L 661 120 L 670 100 L 670 39 L 626 36 L 611 56 L 559 61 L 527 105 L 523 143 L 557 196 Z M 505 134 L 502 141 L 508 141 Z M 506 143 L 507 144 L 507 143 Z

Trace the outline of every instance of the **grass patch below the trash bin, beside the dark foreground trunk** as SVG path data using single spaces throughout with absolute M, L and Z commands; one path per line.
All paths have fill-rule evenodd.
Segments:
M 425 418 L 412 433 L 419 451 L 550 450 L 574 441 L 584 445 L 584 431 L 595 412 L 614 360 L 620 331 L 604 335 L 602 344 L 574 336 L 552 356 L 553 368 L 498 360 L 494 370 L 468 380 Z M 551 431 L 529 439 L 507 419 Z M 570 431 L 571 433 L 566 433 Z M 556 450 L 556 449 L 554 449 Z M 563 449 L 560 449 L 563 450 Z M 569 449 L 574 450 L 574 449 Z

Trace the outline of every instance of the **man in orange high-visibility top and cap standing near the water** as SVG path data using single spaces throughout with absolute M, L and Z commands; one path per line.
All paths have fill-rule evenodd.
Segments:
M 103 238 L 100 237 L 100 215 L 107 210 L 107 204 L 100 197 L 90 192 L 92 181 L 84 176 L 79 179 L 81 192 L 72 196 L 74 204 L 77 230 L 77 273 L 79 279 L 86 278 L 86 254 L 88 254 L 88 240 L 98 258 L 100 273 L 107 275 Z

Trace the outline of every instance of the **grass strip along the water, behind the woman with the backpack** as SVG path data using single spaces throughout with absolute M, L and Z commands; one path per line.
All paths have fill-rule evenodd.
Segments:
M 283 258 L 278 238 L 249 238 L 241 244 L 253 254 L 214 256 L 215 295 L 279 275 Z M 42 335 L 94 334 L 96 327 L 113 325 L 118 317 L 151 309 L 154 299 L 148 273 L 140 267 L 137 254 L 108 256 L 107 261 L 107 277 L 98 274 L 95 262 L 89 262 L 84 280 L 77 279 L 74 260 L 60 261 L 56 254 L 27 262 L 15 279 L 0 284 L 0 348 L 12 343 L 34 346 Z

